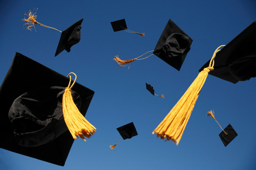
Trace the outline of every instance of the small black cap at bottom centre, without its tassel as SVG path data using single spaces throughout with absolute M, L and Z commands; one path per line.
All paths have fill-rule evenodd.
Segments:
M 120 135 L 123 139 L 131 139 L 132 137 L 138 135 L 133 122 L 128 123 L 124 126 L 116 128 L 116 129 L 120 133 Z

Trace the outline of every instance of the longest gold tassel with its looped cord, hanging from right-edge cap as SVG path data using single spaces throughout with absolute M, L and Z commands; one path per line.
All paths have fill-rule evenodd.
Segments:
M 225 45 L 221 45 L 220 47 L 223 46 Z M 161 139 L 166 138 L 166 140 L 171 139 L 173 142 L 176 142 L 177 145 L 179 144 L 207 75 L 214 69 L 214 58 L 216 53 L 220 51 L 220 47 L 218 47 L 213 53 L 209 67 L 204 68 L 204 70 L 198 74 L 194 82 L 188 87 L 188 90 L 183 94 L 180 100 L 165 116 L 164 120 L 156 127 L 152 134 L 156 132 L 157 137 L 161 137 Z

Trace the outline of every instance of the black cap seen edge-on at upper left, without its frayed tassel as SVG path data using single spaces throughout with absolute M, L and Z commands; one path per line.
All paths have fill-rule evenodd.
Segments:
M 73 25 L 69 26 L 66 30 L 62 31 L 60 41 L 55 53 L 55 57 L 60 54 L 64 49 L 69 52 L 70 48 L 77 44 L 81 39 L 81 24 L 83 19 L 80 19 Z

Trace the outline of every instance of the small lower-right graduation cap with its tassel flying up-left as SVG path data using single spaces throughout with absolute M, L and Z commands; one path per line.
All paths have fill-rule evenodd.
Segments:
M 206 117 L 211 116 L 216 122 L 217 120 L 214 117 L 214 112 L 211 110 L 210 112 L 207 112 Z M 220 123 L 217 122 L 220 126 Z M 220 126 L 221 128 L 221 126 Z M 222 128 L 221 128 L 222 129 Z M 237 136 L 236 131 L 233 129 L 233 127 L 229 124 L 224 130 L 222 129 L 222 132 L 219 134 L 221 141 L 225 145 L 225 147 Z

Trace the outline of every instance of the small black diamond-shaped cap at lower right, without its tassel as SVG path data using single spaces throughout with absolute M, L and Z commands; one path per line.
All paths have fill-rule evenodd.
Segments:
M 228 134 L 226 135 L 223 130 L 220 132 L 219 136 L 225 147 L 237 136 L 236 131 L 233 127 L 229 124 L 224 131 Z

